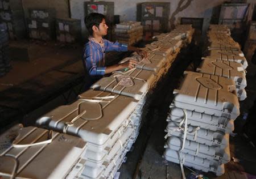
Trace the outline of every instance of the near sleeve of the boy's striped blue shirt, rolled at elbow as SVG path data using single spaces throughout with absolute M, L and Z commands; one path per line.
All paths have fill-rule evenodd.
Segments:
M 90 76 L 100 76 L 105 75 L 106 67 L 98 67 L 96 65 L 96 53 L 92 44 L 88 42 L 85 45 L 83 61 L 85 62 L 86 70 L 88 71 Z

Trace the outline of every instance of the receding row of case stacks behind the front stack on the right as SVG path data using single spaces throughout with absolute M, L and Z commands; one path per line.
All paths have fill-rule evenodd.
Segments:
M 214 26 L 218 28 L 218 25 Z M 219 26 L 222 28 L 222 25 Z M 208 43 L 203 53 L 203 62 L 197 71 L 233 79 L 239 100 L 245 100 L 245 69 L 248 63 L 240 45 L 230 35 L 221 31 L 213 31 L 212 28 L 209 29 L 207 37 Z

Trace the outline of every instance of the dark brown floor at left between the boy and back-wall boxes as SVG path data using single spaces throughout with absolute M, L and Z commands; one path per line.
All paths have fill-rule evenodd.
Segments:
M 33 44 L 35 42 L 31 43 Z M 20 45 L 22 45 L 22 43 L 20 43 Z M 40 50 L 40 46 L 46 48 L 46 52 L 48 51 L 48 53 L 44 53 L 42 56 L 38 56 L 38 58 L 32 59 L 31 61 L 12 59 L 11 71 L 0 78 L 0 91 L 24 83 L 64 63 L 81 59 L 81 47 L 61 48 L 54 42 L 47 42 L 47 44 L 42 43 L 42 45 L 39 45 L 38 50 Z

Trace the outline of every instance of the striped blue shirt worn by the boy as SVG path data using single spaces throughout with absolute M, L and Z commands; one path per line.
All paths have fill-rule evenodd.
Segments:
M 110 42 L 103 39 L 102 45 L 93 38 L 89 38 L 84 48 L 82 62 L 90 76 L 105 75 L 105 53 L 110 51 L 126 52 L 127 45 L 119 42 Z

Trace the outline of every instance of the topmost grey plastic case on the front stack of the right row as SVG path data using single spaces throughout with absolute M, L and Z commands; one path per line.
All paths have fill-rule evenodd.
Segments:
M 174 90 L 171 106 L 236 119 L 240 104 L 232 79 L 215 75 L 186 72 L 179 90 Z

